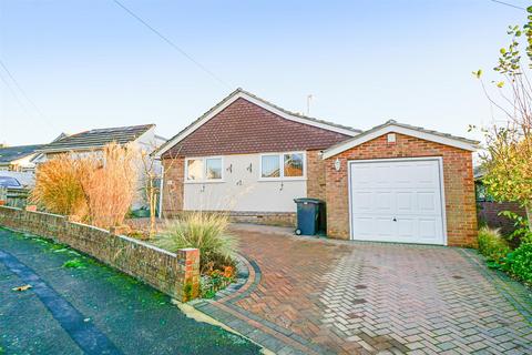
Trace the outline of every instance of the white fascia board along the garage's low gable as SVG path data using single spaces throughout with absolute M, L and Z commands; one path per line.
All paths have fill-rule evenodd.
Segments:
M 418 130 L 405 128 L 405 126 L 401 126 L 401 125 L 390 124 L 390 125 L 386 125 L 383 128 L 380 128 L 378 130 L 370 131 L 368 133 L 360 133 L 359 136 L 355 136 L 354 139 L 345 142 L 345 143 L 340 143 L 336 146 L 331 146 L 330 149 L 328 149 L 324 152 L 323 159 L 324 160 L 329 159 L 329 158 L 335 156 L 335 155 L 337 155 L 341 152 L 345 152 L 345 151 L 347 151 L 351 148 L 355 148 L 355 146 L 360 145 L 362 143 L 369 142 L 369 141 L 371 141 L 376 138 L 379 138 L 383 134 L 387 134 L 387 133 L 400 133 L 400 134 L 405 134 L 405 135 L 410 135 L 410 136 L 419 138 L 420 140 L 434 142 L 434 143 L 440 143 L 440 144 L 443 144 L 443 145 L 450 145 L 450 146 L 463 149 L 463 150 L 471 151 L 471 152 L 474 152 L 477 150 L 477 146 L 474 144 L 468 143 L 468 142 L 464 142 L 464 141 L 461 141 L 461 140 L 457 140 L 457 139 L 453 139 L 453 138 L 450 138 L 450 136 L 442 136 L 442 135 L 439 135 L 439 134 L 418 131 Z

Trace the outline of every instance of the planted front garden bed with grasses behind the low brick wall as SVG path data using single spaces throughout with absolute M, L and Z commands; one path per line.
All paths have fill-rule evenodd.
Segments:
M 150 182 L 139 187 L 142 159 L 134 146 L 116 144 L 105 146 L 102 154 L 58 155 L 39 166 L 30 203 L 39 211 L 64 215 L 69 221 L 141 240 L 172 253 L 200 250 L 200 296 L 213 297 L 229 285 L 236 274 L 237 244 L 227 233 L 228 216 L 191 213 L 155 224 L 154 216 L 150 215 L 150 223 L 130 223 L 134 221 L 130 219 L 132 202 L 139 195 L 152 202 L 153 194 L 157 193 L 155 184 Z M 145 179 L 155 178 L 145 175 L 149 176 Z

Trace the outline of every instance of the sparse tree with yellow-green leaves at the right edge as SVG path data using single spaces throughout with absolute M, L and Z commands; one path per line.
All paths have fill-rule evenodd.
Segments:
M 532 7 L 526 9 L 528 21 L 523 27 L 508 30 L 511 37 L 508 48 L 500 50 L 499 62 L 493 69 L 501 79 L 492 81 L 497 99 L 488 92 L 482 71 L 473 74 L 481 80 L 482 89 L 504 123 L 483 128 L 485 150 L 481 154 L 485 175 L 483 183 L 495 201 L 513 201 L 526 210 L 532 229 Z M 526 41 L 525 55 L 520 52 L 520 41 Z

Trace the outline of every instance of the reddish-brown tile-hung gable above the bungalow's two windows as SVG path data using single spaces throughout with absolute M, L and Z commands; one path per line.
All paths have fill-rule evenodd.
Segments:
M 238 99 L 164 154 L 206 156 L 318 150 L 348 135 L 286 120 Z

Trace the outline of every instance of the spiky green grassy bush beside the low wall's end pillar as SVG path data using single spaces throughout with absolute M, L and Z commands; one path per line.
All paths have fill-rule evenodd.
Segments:
M 200 250 L 202 273 L 224 271 L 234 266 L 236 240 L 227 234 L 228 216 L 213 213 L 192 213 L 181 220 L 168 222 L 154 242 L 171 252 L 183 247 Z

